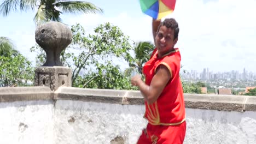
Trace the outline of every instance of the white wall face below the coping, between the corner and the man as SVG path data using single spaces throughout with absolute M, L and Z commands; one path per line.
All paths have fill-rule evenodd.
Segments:
M 58 100 L 55 109 L 56 143 L 110 143 L 122 136 L 136 143 L 146 126 L 144 107 Z M 74 122 L 68 122 L 74 118 Z

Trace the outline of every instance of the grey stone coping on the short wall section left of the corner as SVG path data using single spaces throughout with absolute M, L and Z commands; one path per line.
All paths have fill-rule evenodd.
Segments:
M 0 102 L 53 100 L 49 87 L 0 87 Z

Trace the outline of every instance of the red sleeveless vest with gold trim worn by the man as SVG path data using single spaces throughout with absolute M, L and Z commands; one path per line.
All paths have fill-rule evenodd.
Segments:
M 160 64 L 165 65 L 172 73 L 170 81 L 160 94 L 155 103 L 149 105 L 145 101 L 146 113 L 144 117 L 152 125 L 178 125 L 185 121 L 185 104 L 183 88 L 179 77 L 181 68 L 181 54 L 178 49 L 158 57 L 157 49 L 154 50 L 150 60 L 143 67 L 146 84 L 149 86 Z

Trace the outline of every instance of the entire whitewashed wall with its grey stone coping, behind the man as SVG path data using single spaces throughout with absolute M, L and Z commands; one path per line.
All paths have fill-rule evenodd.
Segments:
M 185 94 L 184 143 L 255 143 L 255 100 Z M 138 91 L 0 88 L 0 143 L 136 143 L 143 114 Z

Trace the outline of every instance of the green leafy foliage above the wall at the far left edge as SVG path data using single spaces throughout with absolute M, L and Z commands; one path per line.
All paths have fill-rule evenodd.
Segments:
M 34 71 L 31 62 L 21 54 L 15 57 L 12 53 L 0 56 L 0 86 L 27 86 L 32 81 Z

